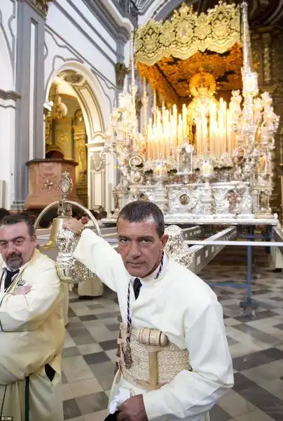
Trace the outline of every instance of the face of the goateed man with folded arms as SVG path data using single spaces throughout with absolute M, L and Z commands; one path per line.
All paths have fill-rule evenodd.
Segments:
M 6 265 L 19 269 L 31 260 L 36 248 L 36 236 L 30 236 L 25 222 L 0 227 L 0 253 Z

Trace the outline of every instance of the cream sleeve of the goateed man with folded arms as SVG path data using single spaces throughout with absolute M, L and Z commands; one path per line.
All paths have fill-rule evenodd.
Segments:
M 62 301 L 55 265 L 52 262 L 44 267 L 39 265 L 37 276 L 39 280 L 27 294 L 0 293 L 0 328 L 3 332 L 36 329 L 54 311 L 56 302 L 59 305 Z

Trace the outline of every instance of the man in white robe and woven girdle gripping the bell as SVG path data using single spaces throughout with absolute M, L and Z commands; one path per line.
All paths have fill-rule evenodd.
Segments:
M 64 227 L 77 234 L 82 229 L 74 220 Z M 118 406 L 117 420 L 208 420 L 208 411 L 233 387 L 221 305 L 205 282 L 163 255 L 167 242 L 164 218 L 154 203 L 127 204 L 117 228 L 120 254 L 90 229 L 81 232 L 74 252 L 77 260 L 116 291 L 121 332 L 123 326 L 127 330 L 130 316 L 132 362 L 127 343 L 122 341 L 120 370 L 109 402 L 118 388 L 128 389 L 131 397 Z M 141 283 L 138 296 L 137 281 Z M 170 342 L 158 356 L 157 385 L 156 371 L 149 362 L 152 352 L 137 344 L 137 337 L 142 336 L 137 329 L 141 328 L 153 334 L 160 331 Z

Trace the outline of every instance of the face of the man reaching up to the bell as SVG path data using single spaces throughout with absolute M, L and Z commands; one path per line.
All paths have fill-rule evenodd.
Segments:
M 144 278 L 160 262 L 168 236 L 158 236 L 152 218 L 141 222 L 118 220 L 118 250 L 131 276 Z

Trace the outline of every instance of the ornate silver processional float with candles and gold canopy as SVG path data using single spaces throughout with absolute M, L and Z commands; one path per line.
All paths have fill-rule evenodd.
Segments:
M 279 117 L 270 94 L 258 94 L 247 3 L 220 1 L 200 15 L 183 4 L 172 20 L 150 20 L 137 29 L 131 59 L 130 91 L 125 84 L 104 136 L 102 158 L 114 156 L 120 172 L 116 211 L 108 221 L 115 222 L 129 201 L 149 199 L 168 223 L 274 222 L 272 150 Z M 226 100 L 215 95 L 213 60 L 216 67 L 222 60 L 222 67 L 233 68 L 225 76 L 235 89 Z M 144 91 L 139 119 L 134 62 Z M 195 74 L 178 81 L 179 90 L 191 95 L 184 103 L 164 77 L 174 81 L 183 62 L 188 69 L 196 63 Z

